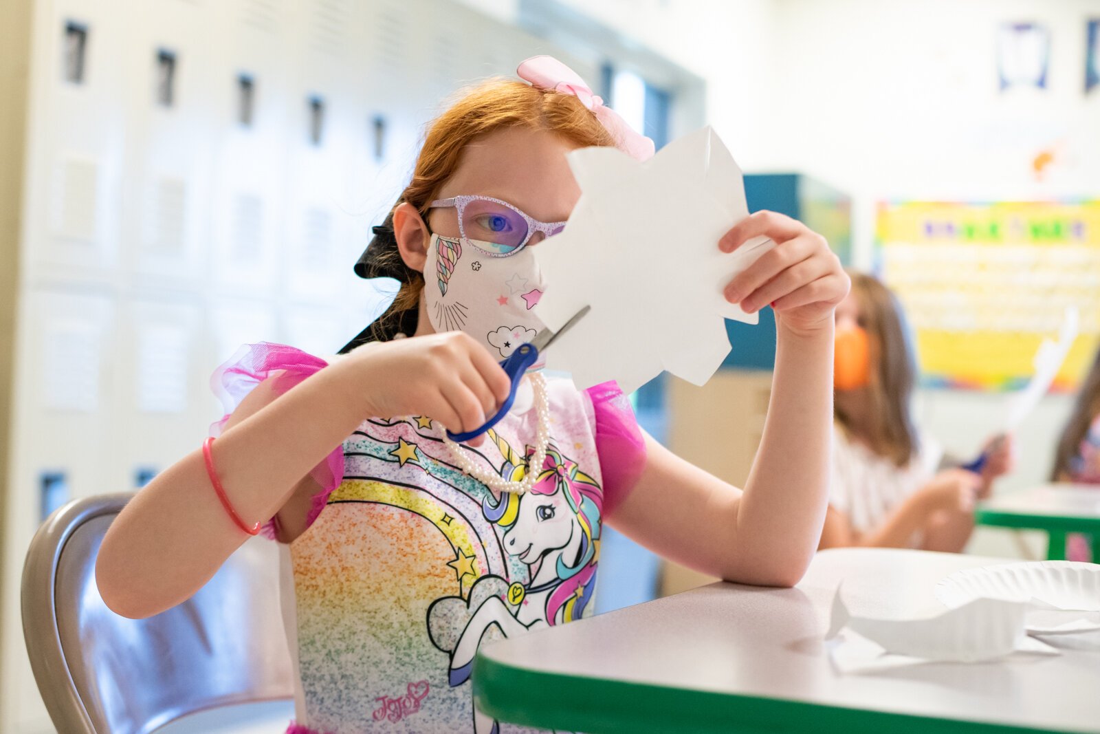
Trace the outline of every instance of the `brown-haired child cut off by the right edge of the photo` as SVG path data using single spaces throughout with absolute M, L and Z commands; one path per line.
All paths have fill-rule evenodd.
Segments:
M 1097 350 L 1092 369 L 1077 395 L 1074 413 L 1062 431 L 1050 479 L 1100 484 L 1100 350 Z M 1091 536 L 1069 534 L 1066 557 L 1077 561 L 1098 560 L 1092 558 L 1091 543 Z

